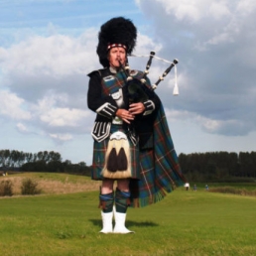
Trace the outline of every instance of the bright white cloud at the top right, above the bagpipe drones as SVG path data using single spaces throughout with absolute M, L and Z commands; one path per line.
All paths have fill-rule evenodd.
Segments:
M 242 33 L 244 24 L 250 19 L 249 16 L 255 15 L 256 11 L 253 0 L 136 2 L 150 19 L 159 24 L 162 37 L 165 36 L 164 33 L 170 33 L 172 40 L 179 34 L 183 37 L 191 35 L 191 39 L 195 40 L 194 49 L 200 51 L 208 50 L 211 45 L 233 43 Z

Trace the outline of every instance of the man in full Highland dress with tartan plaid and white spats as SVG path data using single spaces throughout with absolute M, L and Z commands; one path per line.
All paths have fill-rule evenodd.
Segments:
M 137 29 L 128 19 L 103 24 L 97 55 L 104 68 L 88 74 L 87 103 L 97 113 L 92 180 L 102 181 L 103 233 L 132 232 L 125 227 L 129 205 L 157 202 L 184 181 L 159 97 L 142 71 L 124 67 L 136 39 Z

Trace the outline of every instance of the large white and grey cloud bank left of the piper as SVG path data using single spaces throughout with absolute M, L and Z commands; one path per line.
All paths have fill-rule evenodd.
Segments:
M 0 48 L 0 114 L 26 120 L 26 126 L 16 126 L 20 132 L 29 126 L 57 141 L 87 131 L 92 113 L 86 107 L 86 73 L 99 66 L 95 45 L 96 31 L 88 29 L 78 38 L 35 35 Z

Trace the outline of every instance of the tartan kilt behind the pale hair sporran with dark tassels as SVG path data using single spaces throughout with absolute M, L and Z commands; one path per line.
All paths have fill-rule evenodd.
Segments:
M 127 133 L 123 129 L 121 125 L 112 125 L 110 133 L 114 133 L 116 131 L 121 131 L 123 133 Z M 111 135 L 110 134 L 110 135 Z M 94 140 L 93 143 L 93 158 L 92 158 L 92 166 L 91 166 L 91 179 L 95 181 L 102 181 L 104 177 L 101 172 L 105 166 L 106 161 L 106 152 L 109 138 L 106 138 L 102 142 L 97 142 Z M 139 148 L 138 146 L 134 146 L 130 139 L 128 138 L 130 145 L 130 157 L 131 157 L 131 179 L 140 179 L 140 170 L 139 170 Z

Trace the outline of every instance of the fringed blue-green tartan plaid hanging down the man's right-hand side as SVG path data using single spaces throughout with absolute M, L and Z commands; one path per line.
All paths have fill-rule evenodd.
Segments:
M 154 122 L 154 149 L 140 152 L 141 179 L 131 180 L 131 206 L 143 207 L 163 199 L 186 183 L 161 103 Z

